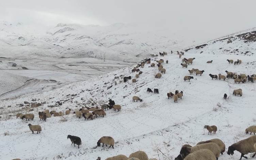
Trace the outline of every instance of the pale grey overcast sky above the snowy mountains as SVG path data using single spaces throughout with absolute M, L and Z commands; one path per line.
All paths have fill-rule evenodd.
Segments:
M 0 20 L 12 23 L 135 23 L 208 39 L 256 27 L 256 0 L 0 1 Z

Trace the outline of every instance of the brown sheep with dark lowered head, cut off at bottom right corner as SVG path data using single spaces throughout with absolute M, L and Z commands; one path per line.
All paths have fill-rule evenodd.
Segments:
M 238 151 L 241 153 L 240 160 L 242 159 L 242 157 L 247 159 L 247 157 L 245 157 L 244 155 L 255 152 L 255 143 L 256 143 L 256 135 L 246 138 L 244 140 L 238 141 L 228 147 L 227 154 L 234 155 L 234 151 Z M 252 158 L 255 156 L 255 154 L 256 153 L 253 154 Z

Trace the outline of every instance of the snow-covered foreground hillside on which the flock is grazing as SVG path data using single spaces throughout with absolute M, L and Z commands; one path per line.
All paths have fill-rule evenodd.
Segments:
M 238 39 L 237 39 L 238 40 Z M 235 41 L 237 41 L 235 40 Z M 221 47 L 226 47 L 225 41 L 220 41 Z M 242 42 L 242 41 L 241 41 Z M 254 42 L 248 43 L 253 45 Z M 237 43 L 233 43 L 237 44 Z M 132 83 L 124 83 L 121 75 L 135 78 L 131 73 L 133 66 L 118 69 L 114 72 L 98 76 L 86 81 L 74 82 L 41 94 L 27 94 L 11 100 L 0 102 L 2 118 L 0 123 L 0 159 L 97 159 L 102 160 L 119 154 L 129 156 L 134 151 L 145 151 L 150 158 L 173 160 L 179 154 L 180 147 L 189 143 L 195 145 L 199 141 L 219 138 L 227 147 L 238 140 L 251 135 L 245 134 L 245 128 L 255 124 L 255 83 L 234 84 L 234 79 L 212 80 L 209 74 L 226 75 L 225 70 L 252 75 L 255 73 L 254 54 L 224 54 L 215 43 L 201 49 L 203 53 L 190 49 L 181 58 L 195 58 L 188 68 L 182 68 L 181 59 L 176 54 L 165 57 L 151 57 L 151 62 L 164 59 L 163 67 L 166 73 L 160 79 L 154 75 L 158 67 L 146 64 L 139 67 L 143 73 Z M 233 48 L 236 48 L 234 45 Z M 242 48 L 240 48 L 242 49 Z M 254 51 L 252 51 L 253 53 Z M 207 53 L 207 54 L 206 54 Z M 226 59 L 241 59 L 242 64 L 228 64 Z M 166 60 L 169 63 L 166 64 Z M 213 63 L 206 63 L 213 60 Z M 188 69 L 204 70 L 202 76 L 193 74 L 190 82 L 184 81 L 189 76 Z M 117 85 L 115 85 L 115 82 Z M 148 93 L 147 88 L 159 89 L 159 94 Z M 233 90 L 241 88 L 242 97 L 234 96 Z M 174 103 L 168 99 L 167 92 L 183 91 L 182 99 Z M 223 95 L 228 95 L 227 100 Z M 139 96 L 142 102 L 132 102 L 132 96 Z M 33 98 L 40 99 L 44 104 L 33 108 L 19 107 L 16 104 L 24 101 L 32 102 Z M 73 113 L 81 107 L 100 107 L 112 99 L 122 105 L 120 112 L 113 109 L 106 111 L 106 116 L 84 121 L 76 118 L 75 114 L 62 117 L 47 118 L 46 122 L 38 119 L 38 112 L 44 109 L 65 112 L 71 108 Z M 58 103 L 57 103 L 58 102 Z M 59 105 L 62 102 L 62 105 Z M 93 104 L 92 104 L 93 103 Z M 56 104 L 56 106 L 54 106 Z M 8 108 L 8 105 L 12 105 Z M 50 107 L 53 105 L 54 107 Z M 16 119 L 16 113 L 34 113 L 33 121 Z M 28 124 L 40 124 L 42 132 L 31 134 Z M 217 125 L 218 131 L 208 135 L 204 125 Z M 79 136 L 82 140 L 80 149 L 71 146 L 67 135 Z M 111 136 L 115 140 L 114 149 L 96 147 L 102 136 Z M 167 156 L 162 155 L 160 151 Z M 11 151 L 11 152 L 10 152 Z M 158 158 L 158 153 L 159 157 Z M 240 154 L 235 152 L 235 159 Z M 219 160 L 231 160 L 225 152 Z

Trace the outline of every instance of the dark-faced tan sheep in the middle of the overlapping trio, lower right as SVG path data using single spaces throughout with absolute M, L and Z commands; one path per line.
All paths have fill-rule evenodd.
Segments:
M 198 144 L 193 147 L 182 147 L 180 150 L 180 156 L 181 158 L 186 158 L 191 153 L 194 153 L 195 151 L 198 151 L 200 149 L 209 149 L 215 156 L 216 160 L 220 157 L 221 149 L 216 143 L 204 143 L 204 144 Z

